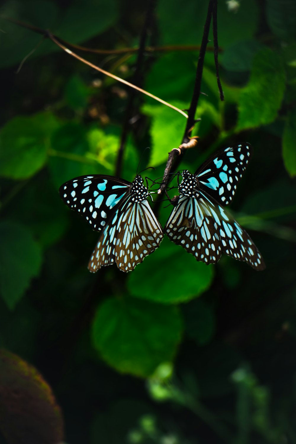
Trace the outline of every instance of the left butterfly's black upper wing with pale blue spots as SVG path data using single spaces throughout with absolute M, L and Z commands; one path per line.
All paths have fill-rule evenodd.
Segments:
M 108 175 L 80 176 L 65 182 L 59 195 L 95 231 L 101 231 L 119 203 L 130 193 L 130 182 Z

